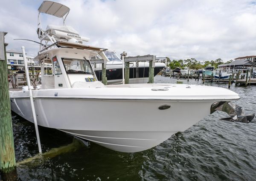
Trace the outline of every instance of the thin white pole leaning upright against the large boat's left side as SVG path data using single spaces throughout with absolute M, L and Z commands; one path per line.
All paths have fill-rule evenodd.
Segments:
M 35 115 L 35 106 L 34 106 L 34 101 L 33 101 L 31 85 L 30 85 L 28 65 L 27 65 L 27 62 L 26 62 L 25 47 L 21 46 L 21 49 L 22 49 L 22 54 L 23 54 L 23 60 L 24 60 L 24 67 L 25 67 L 25 72 L 26 72 L 27 85 L 29 87 L 29 97 L 30 97 L 30 103 L 31 103 L 31 108 L 32 108 L 32 113 L 33 113 L 33 118 L 34 118 L 36 138 L 37 138 L 37 141 L 38 141 L 38 150 L 39 150 L 39 153 L 41 153 L 42 152 L 41 141 L 40 141 L 40 137 L 39 137 L 37 119 L 36 119 L 36 115 Z

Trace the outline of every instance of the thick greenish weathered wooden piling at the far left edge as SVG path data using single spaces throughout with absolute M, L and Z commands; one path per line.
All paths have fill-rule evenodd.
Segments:
M 6 46 L 4 36 L 0 32 L 0 172 L 3 180 L 16 180 L 16 162 L 12 132 L 12 116 L 9 96 Z

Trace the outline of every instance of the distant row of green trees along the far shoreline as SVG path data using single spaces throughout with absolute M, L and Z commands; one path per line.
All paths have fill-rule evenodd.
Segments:
M 183 69 L 184 67 L 188 67 L 189 69 L 202 69 L 206 66 L 214 66 L 217 68 L 219 65 L 223 64 L 223 60 L 218 58 L 216 60 L 207 60 L 207 61 L 198 61 L 195 58 L 190 58 L 186 60 L 170 60 L 169 57 L 166 57 L 167 65 L 169 65 L 170 69 L 175 69 L 177 67 Z M 233 60 L 227 61 L 226 63 L 231 63 Z

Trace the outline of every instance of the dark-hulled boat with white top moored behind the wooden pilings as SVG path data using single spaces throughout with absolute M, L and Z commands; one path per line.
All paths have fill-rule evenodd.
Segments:
M 108 84 L 122 83 L 122 60 L 116 55 L 114 51 L 106 50 L 103 52 L 106 58 L 106 77 Z M 97 59 L 103 59 L 99 55 Z M 93 60 L 96 59 L 93 57 Z M 156 76 L 161 69 L 166 66 L 165 63 L 155 62 L 154 76 Z M 102 64 L 96 64 L 94 72 L 98 80 L 102 79 Z M 130 80 L 129 83 L 148 83 L 148 67 L 149 62 L 131 62 L 130 63 Z

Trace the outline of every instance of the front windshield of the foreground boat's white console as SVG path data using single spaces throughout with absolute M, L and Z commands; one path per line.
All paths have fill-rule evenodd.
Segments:
M 62 58 L 67 73 L 93 74 L 88 60 Z

